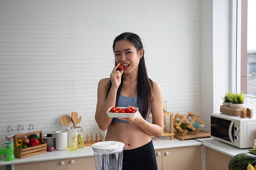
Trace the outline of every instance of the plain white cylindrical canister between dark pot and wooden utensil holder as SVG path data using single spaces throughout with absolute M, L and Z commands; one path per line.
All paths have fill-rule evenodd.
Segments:
M 56 131 L 55 132 L 55 145 L 56 150 L 68 149 L 68 132 L 67 131 Z

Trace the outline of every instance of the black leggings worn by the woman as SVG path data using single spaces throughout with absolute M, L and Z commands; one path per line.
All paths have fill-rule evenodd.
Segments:
M 123 151 L 122 170 L 157 170 L 157 160 L 152 140 L 142 147 Z

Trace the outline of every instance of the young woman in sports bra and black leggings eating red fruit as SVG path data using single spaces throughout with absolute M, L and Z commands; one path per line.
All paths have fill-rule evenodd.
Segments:
M 158 83 L 147 77 L 141 39 L 134 33 L 122 33 L 113 43 L 115 67 L 110 78 L 98 83 L 95 120 L 106 130 L 105 141 L 125 144 L 122 169 L 157 169 L 152 137 L 163 134 L 163 100 Z M 123 70 L 118 70 L 119 65 Z M 110 107 L 138 107 L 134 118 L 111 118 Z M 152 124 L 148 115 L 152 112 Z

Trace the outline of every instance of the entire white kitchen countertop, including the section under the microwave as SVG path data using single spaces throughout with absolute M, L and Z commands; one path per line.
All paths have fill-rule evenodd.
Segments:
M 169 136 L 163 136 L 160 138 L 153 137 L 152 140 L 154 143 L 155 150 L 168 149 L 168 148 L 180 148 L 180 147 L 195 147 L 195 146 L 204 145 L 207 148 L 216 150 L 218 152 L 221 152 L 231 157 L 239 153 L 248 152 L 248 150 L 251 149 L 251 148 L 240 149 L 209 137 L 198 138 L 198 139 L 188 139 L 188 140 L 181 141 L 176 138 L 174 138 L 174 140 L 170 140 Z M 93 155 L 94 155 L 94 151 L 92 147 L 84 147 L 83 149 L 78 149 L 77 151 L 69 151 L 69 149 L 65 151 L 54 150 L 52 152 L 46 152 L 46 153 L 42 153 L 42 154 L 38 154 L 38 155 L 34 155 L 34 156 L 22 158 L 22 159 L 15 157 L 14 161 L 10 161 L 10 162 L 5 161 L 5 159 L 0 160 L 0 166 L 8 165 L 8 164 L 87 157 L 87 156 L 93 156 Z

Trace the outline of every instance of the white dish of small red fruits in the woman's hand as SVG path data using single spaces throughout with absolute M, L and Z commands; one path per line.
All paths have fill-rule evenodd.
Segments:
M 122 117 L 127 118 L 127 116 L 130 116 L 132 118 L 135 117 L 137 114 L 139 108 L 138 107 L 111 107 L 106 111 L 106 114 L 108 114 L 109 117 Z

